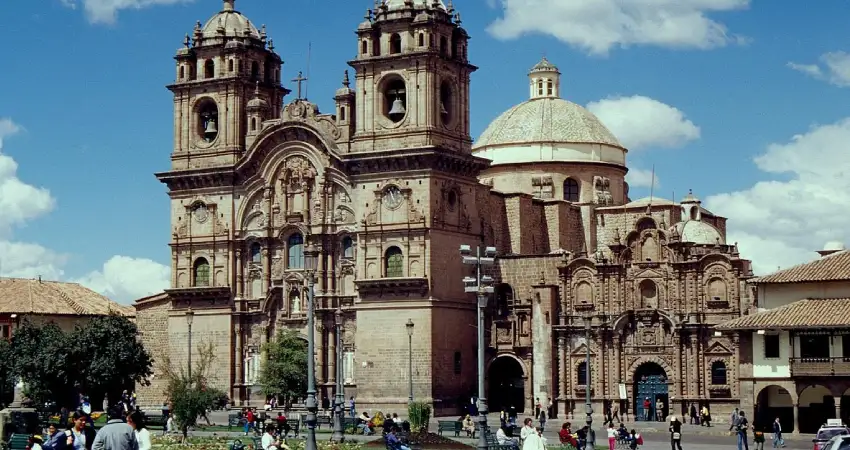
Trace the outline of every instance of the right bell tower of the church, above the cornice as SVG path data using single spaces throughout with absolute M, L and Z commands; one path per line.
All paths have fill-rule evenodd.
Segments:
M 469 35 L 441 0 L 382 0 L 357 29 L 352 152 L 437 146 L 470 153 Z

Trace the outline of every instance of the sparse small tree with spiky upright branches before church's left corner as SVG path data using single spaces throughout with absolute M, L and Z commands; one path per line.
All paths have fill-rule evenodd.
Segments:
M 197 425 L 198 417 L 206 417 L 207 411 L 215 408 L 227 395 L 207 384 L 208 372 L 215 360 L 213 344 L 199 346 L 198 353 L 198 362 L 192 368 L 191 377 L 184 367 L 175 367 L 167 355 L 162 358 L 163 372 L 168 380 L 165 395 L 171 400 L 171 412 L 183 432 L 184 441 L 189 427 Z

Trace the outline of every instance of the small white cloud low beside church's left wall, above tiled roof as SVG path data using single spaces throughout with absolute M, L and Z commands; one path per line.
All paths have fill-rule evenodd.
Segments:
M 75 280 L 107 297 L 128 303 L 162 292 L 171 285 L 171 268 L 156 261 L 113 256 L 101 270 Z

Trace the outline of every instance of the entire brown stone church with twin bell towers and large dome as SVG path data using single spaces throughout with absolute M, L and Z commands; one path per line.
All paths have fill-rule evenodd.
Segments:
M 485 330 L 494 407 L 529 411 L 540 398 L 560 414 L 580 411 L 584 318 L 597 411 L 622 391 L 632 410 L 638 395 L 674 408 L 736 404 L 738 342 L 713 325 L 750 307 L 749 262 L 725 242 L 726 219 L 692 195 L 628 198 L 627 150 L 561 99 L 557 67 L 535 66 L 530 99 L 473 145 L 476 67 L 451 2 L 370 10 L 333 114 L 302 98 L 301 81 L 284 100 L 283 60 L 265 26 L 223 3 L 186 36 L 168 86 L 172 165 L 157 177 L 171 202 L 172 286 L 135 304 L 155 357 L 186 360 L 191 308 L 192 354 L 197 343 L 215 349 L 210 382 L 236 405 L 262 403 L 263 344 L 282 329 L 306 336 L 312 244 L 320 397 L 335 389 L 340 310 L 346 397 L 400 410 L 412 376 L 417 399 L 455 414 L 477 376 L 475 299 L 463 292 L 470 269 L 458 249 L 494 246 Z M 139 388 L 143 404 L 161 402 L 161 373 Z

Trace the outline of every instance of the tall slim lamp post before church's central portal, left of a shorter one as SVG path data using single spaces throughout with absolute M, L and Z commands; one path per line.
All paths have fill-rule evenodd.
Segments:
M 313 292 L 316 267 L 319 264 L 319 251 L 313 244 L 304 250 L 304 269 L 307 275 L 307 442 L 306 450 L 316 450 L 316 413 L 319 404 L 316 402 L 316 305 Z

